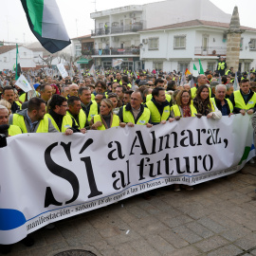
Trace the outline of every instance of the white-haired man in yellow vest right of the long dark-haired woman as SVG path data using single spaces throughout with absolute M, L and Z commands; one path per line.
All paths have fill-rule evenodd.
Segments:
M 215 105 L 218 110 L 221 111 L 222 116 L 232 115 L 233 104 L 229 99 L 225 99 L 227 92 L 227 87 L 225 84 L 218 84 L 215 87 L 215 97 L 210 98 L 210 101 Z

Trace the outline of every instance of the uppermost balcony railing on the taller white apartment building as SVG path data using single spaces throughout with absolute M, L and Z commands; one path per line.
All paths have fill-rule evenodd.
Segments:
M 137 32 L 143 29 L 143 23 L 138 22 L 132 25 L 120 26 L 120 27 L 106 27 L 106 28 L 96 28 L 92 30 L 92 36 L 101 36 L 109 34 L 121 34 L 127 32 Z

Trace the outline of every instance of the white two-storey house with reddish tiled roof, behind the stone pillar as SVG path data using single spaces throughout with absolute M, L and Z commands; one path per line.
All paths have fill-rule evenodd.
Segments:
M 244 29 L 241 39 L 239 70 L 256 65 L 256 29 Z M 148 70 L 181 71 L 193 64 L 215 70 L 219 56 L 226 57 L 229 23 L 193 20 L 140 31 L 140 60 Z M 248 43 L 251 43 L 250 47 Z M 229 67 L 228 67 L 229 68 Z

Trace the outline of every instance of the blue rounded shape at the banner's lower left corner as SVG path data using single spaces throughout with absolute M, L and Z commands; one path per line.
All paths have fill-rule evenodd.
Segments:
M 0 209 L 0 230 L 17 229 L 25 223 L 26 218 L 21 211 Z

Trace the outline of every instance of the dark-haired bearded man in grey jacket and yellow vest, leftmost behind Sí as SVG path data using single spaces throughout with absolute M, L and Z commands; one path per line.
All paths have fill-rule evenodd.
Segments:
M 9 124 L 19 126 L 23 133 L 57 132 L 45 114 L 46 102 L 41 98 L 32 98 L 28 101 L 27 109 L 9 116 Z

